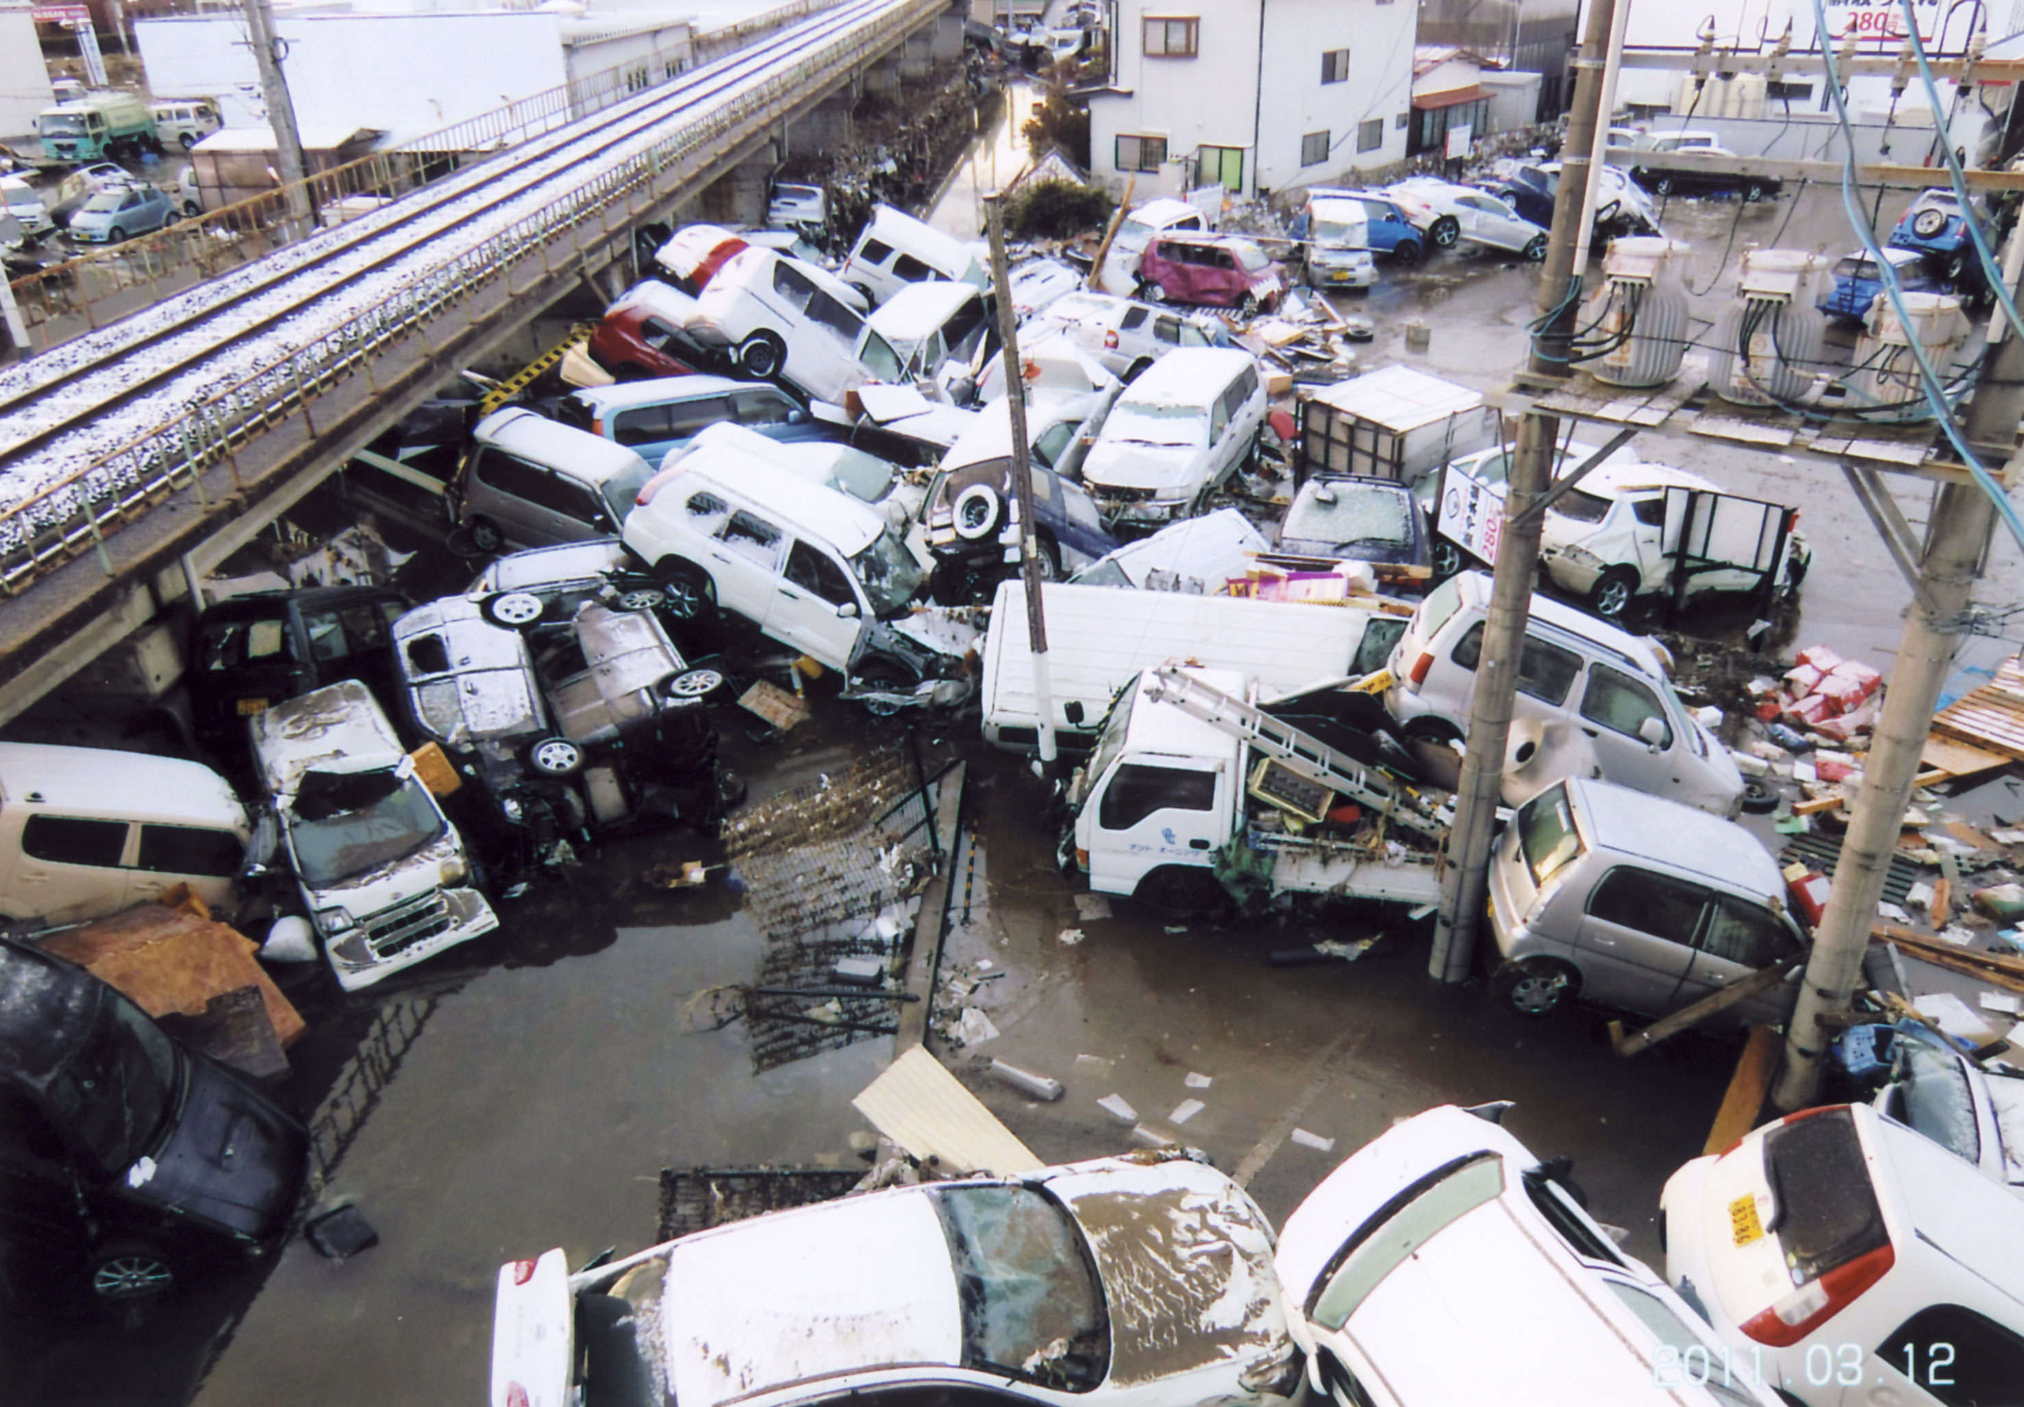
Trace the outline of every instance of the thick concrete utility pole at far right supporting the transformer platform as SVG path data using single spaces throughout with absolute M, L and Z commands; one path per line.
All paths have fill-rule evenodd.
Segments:
M 2018 235 L 2012 235 L 2012 241 Z M 2006 267 L 2016 261 L 2008 251 Z M 2018 285 L 2024 289 L 2024 283 Z M 1990 328 L 2002 332 L 2002 318 Z M 1981 370 L 1975 399 L 1967 407 L 1967 443 L 1984 464 L 2010 460 L 2024 417 L 2024 342 L 2004 336 L 1996 354 Z M 1785 1030 L 1785 1069 L 1771 1099 L 1787 1113 L 1814 1103 L 1820 1091 L 1820 1063 L 1834 1041 L 1834 1030 L 1822 1026 L 1822 1016 L 1850 1010 L 1856 982 L 1862 978 L 1862 954 L 1870 945 L 1876 905 L 1884 897 L 1884 879 L 1896 850 L 1905 808 L 1911 804 L 1913 777 L 1919 775 L 1919 753 L 1933 731 L 1933 709 L 1939 690 L 1953 670 L 1953 654 L 1961 644 L 1967 597 L 1981 573 L 1996 526 L 1996 506 L 1973 484 L 1941 484 L 1933 496 L 1933 516 L 1927 522 L 1925 553 L 1919 557 L 1919 583 L 1905 613 L 1905 636 L 1899 640 L 1896 664 L 1890 666 L 1882 715 L 1862 763 L 1862 788 L 1842 840 L 1842 856 L 1834 866 L 1834 887 L 1828 891 L 1828 911 L 1814 933 L 1814 951 L 1805 964 L 1799 1004 Z

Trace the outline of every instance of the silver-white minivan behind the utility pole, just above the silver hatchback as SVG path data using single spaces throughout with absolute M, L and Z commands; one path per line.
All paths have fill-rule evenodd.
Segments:
M 1465 571 L 1421 599 L 1393 650 L 1384 707 L 1411 739 L 1459 743 L 1490 617 L 1490 575 Z M 1743 773 L 1666 678 L 1639 636 L 1571 605 L 1532 597 L 1504 802 L 1518 806 L 1565 775 L 1599 775 L 1735 818 Z

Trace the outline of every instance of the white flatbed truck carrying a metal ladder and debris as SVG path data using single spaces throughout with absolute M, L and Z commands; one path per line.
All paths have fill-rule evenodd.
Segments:
M 1091 891 L 1164 913 L 1200 913 L 1225 895 L 1435 903 L 1451 798 L 1241 692 L 1243 676 L 1227 670 L 1158 666 L 1119 694 L 1069 781 L 1063 848 Z

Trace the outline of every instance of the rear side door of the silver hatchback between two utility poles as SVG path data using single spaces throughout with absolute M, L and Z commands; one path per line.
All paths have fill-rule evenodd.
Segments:
M 1706 907 L 1700 885 L 1635 864 L 1613 866 L 1583 907 L 1575 941 L 1581 994 L 1633 1012 L 1678 1006 Z

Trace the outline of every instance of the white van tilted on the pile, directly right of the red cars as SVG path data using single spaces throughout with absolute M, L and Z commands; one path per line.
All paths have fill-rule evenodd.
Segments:
M 834 273 L 751 245 L 733 255 L 696 298 L 684 328 L 704 346 L 731 348 L 755 381 L 781 377 L 820 401 L 874 381 L 864 350 L 860 294 Z M 891 348 L 884 356 L 899 360 Z

